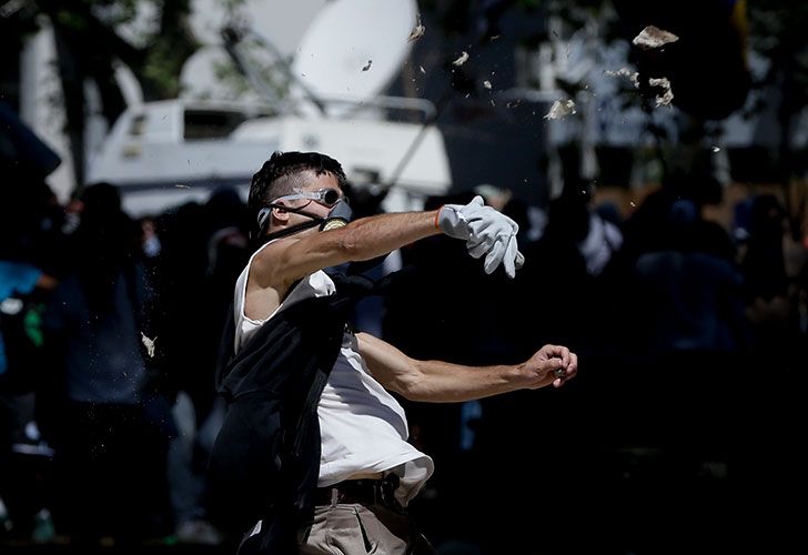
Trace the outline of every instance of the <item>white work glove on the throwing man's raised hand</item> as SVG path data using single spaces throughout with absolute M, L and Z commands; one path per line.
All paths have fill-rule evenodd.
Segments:
M 444 204 L 437 213 L 437 225 L 448 236 L 466 241 L 468 253 L 475 259 L 485 254 L 485 273 L 502 263 L 509 278 L 525 263 L 517 250 L 519 226 L 505 214 L 486 206 L 477 195 L 466 205 Z

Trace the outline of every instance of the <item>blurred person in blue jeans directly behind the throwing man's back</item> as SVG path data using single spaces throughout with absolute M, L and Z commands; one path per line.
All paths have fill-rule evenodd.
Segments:
M 235 279 L 249 259 L 246 204 L 232 188 L 204 204 L 186 203 L 155 219 L 160 350 L 170 382 L 178 436 L 168 477 L 180 543 L 215 545 L 222 534 L 203 504 L 204 468 L 222 418 L 214 375 L 219 340 Z M 152 240 L 152 243 L 154 241 Z

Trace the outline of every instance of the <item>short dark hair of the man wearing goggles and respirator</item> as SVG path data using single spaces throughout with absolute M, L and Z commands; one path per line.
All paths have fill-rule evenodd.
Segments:
M 292 194 L 293 189 L 300 186 L 299 183 L 294 179 L 281 178 L 293 178 L 306 171 L 313 171 L 315 175 L 331 173 L 336 178 L 340 189 L 345 190 L 347 185 L 342 165 L 331 157 L 320 152 L 275 151 L 253 175 L 248 205 L 259 211 L 279 196 Z

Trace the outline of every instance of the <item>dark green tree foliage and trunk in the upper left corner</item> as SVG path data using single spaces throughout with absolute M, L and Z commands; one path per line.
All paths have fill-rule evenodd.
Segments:
M 175 98 L 180 70 L 199 44 L 188 24 L 190 0 L 14 0 L 0 13 L 4 38 L 13 56 L 23 40 L 50 23 L 57 47 L 67 134 L 73 160 L 84 160 L 85 82 L 97 84 L 101 113 L 112 123 L 127 108 L 114 79 L 115 64 L 124 63 L 138 79 L 144 100 Z M 9 6 L 12 3 L 13 6 Z M 19 4 L 19 6 L 17 6 Z M 151 8 L 151 9 L 148 9 Z M 139 10 L 153 13 L 147 30 L 122 32 L 133 26 Z M 8 56 L 9 52 L 7 52 Z M 83 163 L 73 164 L 77 183 L 83 182 Z

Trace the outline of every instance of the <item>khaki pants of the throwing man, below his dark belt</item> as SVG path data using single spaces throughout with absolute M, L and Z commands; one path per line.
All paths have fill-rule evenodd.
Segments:
M 337 504 L 317 506 L 301 555 L 427 555 L 430 543 L 410 517 L 382 505 Z

